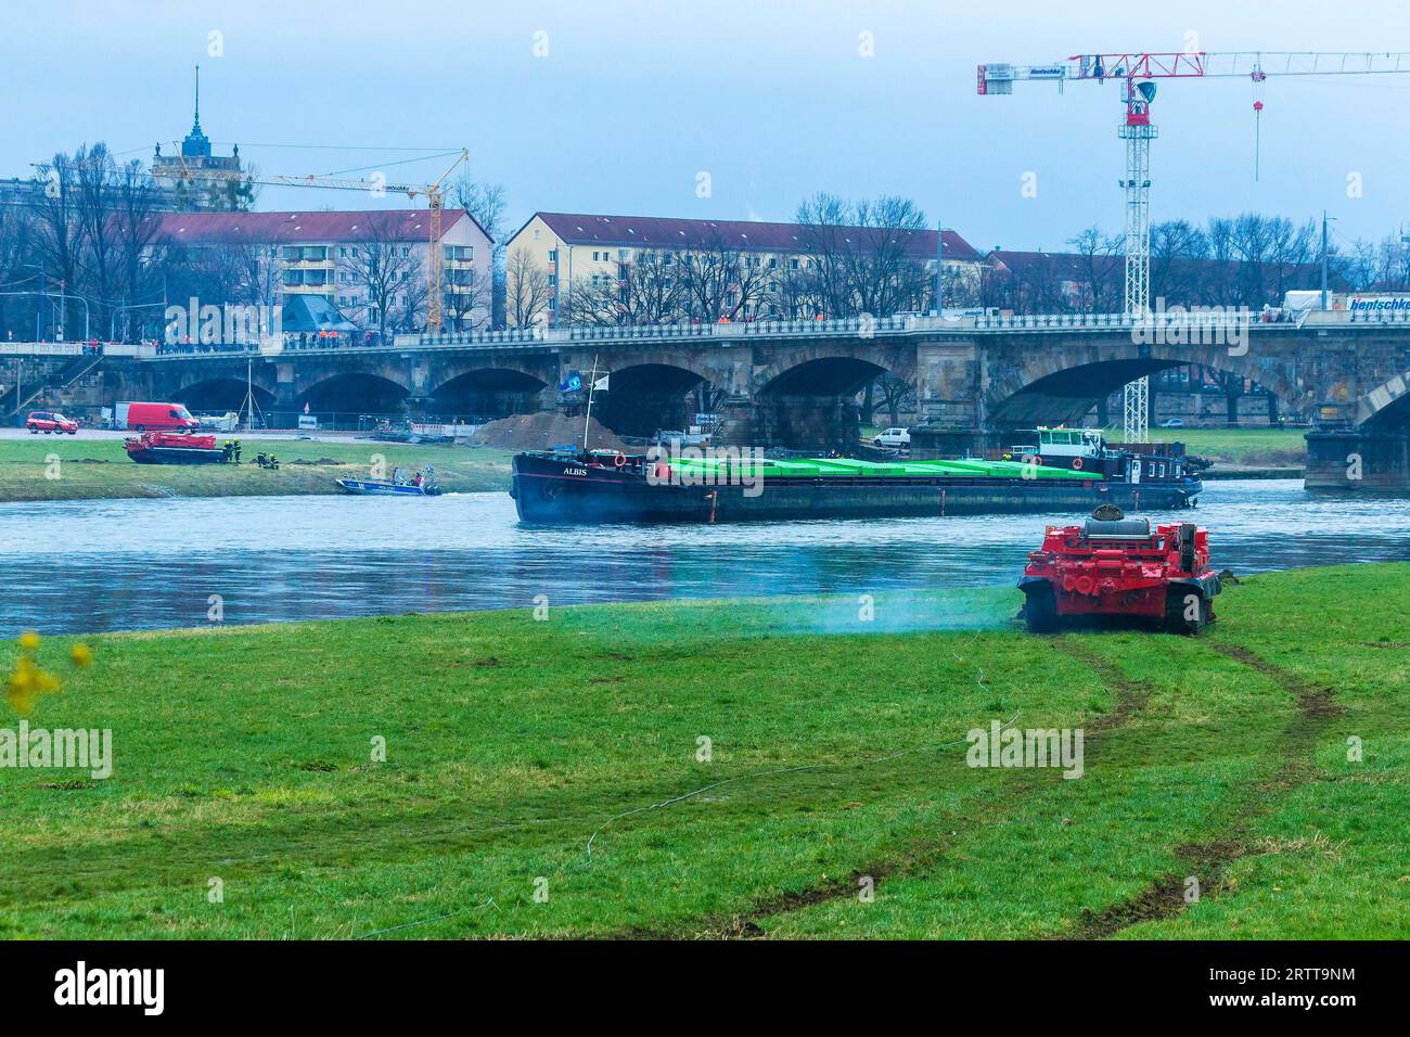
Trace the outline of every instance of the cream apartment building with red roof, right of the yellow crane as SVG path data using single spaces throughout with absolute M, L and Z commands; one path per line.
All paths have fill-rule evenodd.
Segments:
M 874 230 L 836 229 L 840 240 L 866 241 Z M 925 264 L 933 277 L 936 231 L 922 230 L 909 236 L 908 253 Z M 743 254 L 750 268 L 778 274 L 807 269 L 809 229 L 797 223 L 754 220 L 685 220 L 651 216 L 595 216 L 588 213 L 534 213 L 509 240 L 505 253 L 513 257 L 523 250 L 541 268 L 548 281 L 546 309 L 536 323 L 556 323 L 568 306 L 574 286 L 609 285 L 643 251 L 673 253 L 699 247 L 722 247 Z M 966 282 L 979 284 L 983 257 L 959 234 L 943 234 L 943 261 Z M 513 291 L 513 288 L 510 288 Z M 750 308 L 752 309 L 752 308 Z M 761 316 L 743 313 L 744 319 Z

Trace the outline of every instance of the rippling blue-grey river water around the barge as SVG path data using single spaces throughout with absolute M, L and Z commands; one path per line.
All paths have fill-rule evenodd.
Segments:
M 1193 516 L 1239 574 L 1410 560 L 1406 499 L 1221 481 Z M 244 624 L 1012 584 L 1043 525 L 1079 518 L 532 528 L 502 492 L 4 504 L 0 636 L 202 625 L 213 594 Z

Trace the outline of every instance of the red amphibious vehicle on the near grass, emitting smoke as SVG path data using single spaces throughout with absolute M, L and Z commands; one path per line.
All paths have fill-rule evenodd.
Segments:
M 1028 556 L 1024 619 L 1043 633 L 1074 617 L 1131 617 L 1198 633 L 1214 621 L 1220 577 L 1210 567 L 1210 535 L 1193 522 L 1151 530 L 1103 505 L 1080 526 L 1048 526 Z

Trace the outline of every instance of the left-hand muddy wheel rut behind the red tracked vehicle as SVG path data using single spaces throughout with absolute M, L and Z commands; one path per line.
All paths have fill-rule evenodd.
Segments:
M 1052 638 L 1049 639 L 1049 645 L 1053 650 L 1062 652 L 1063 655 L 1087 666 L 1108 689 L 1115 690 L 1117 701 L 1111 712 L 1103 714 L 1101 717 L 1094 718 L 1090 724 L 1086 724 L 1086 755 L 1090 759 L 1093 753 L 1101 752 L 1101 738 L 1104 734 L 1118 729 L 1132 717 L 1145 710 L 1146 703 L 1151 700 L 1151 687 L 1145 681 L 1131 680 L 1120 670 L 1120 667 L 1110 660 L 1094 655 L 1084 645 L 1081 645 L 1081 642 L 1070 638 Z M 957 832 L 964 831 L 967 835 L 973 830 L 983 825 L 1003 823 L 1018 806 L 1024 803 L 1024 800 L 1035 793 L 1050 789 L 1055 780 L 1060 782 L 1060 779 L 1053 775 L 1038 770 L 1019 772 L 1012 777 L 1015 787 L 1007 792 L 1004 803 L 997 811 L 983 817 L 956 817 L 949 820 L 946 827 L 953 827 Z M 829 879 L 828 882 L 808 886 L 807 889 L 778 893 L 776 896 L 757 900 L 753 906 L 729 917 L 702 918 L 697 924 L 687 923 L 685 926 L 677 926 L 673 928 L 634 927 L 605 934 L 603 938 L 749 940 L 764 937 L 767 934 L 759 923 L 766 918 L 788 914 L 791 911 L 828 903 L 830 900 L 854 897 L 857 895 L 857 885 L 863 878 L 870 878 L 880 889 L 881 883 L 890 878 L 929 871 L 945 861 L 950 848 L 952 842 L 948 838 L 940 838 L 939 841 L 916 841 L 901 848 L 898 852 L 888 855 L 885 859 L 853 869 L 845 878 Z

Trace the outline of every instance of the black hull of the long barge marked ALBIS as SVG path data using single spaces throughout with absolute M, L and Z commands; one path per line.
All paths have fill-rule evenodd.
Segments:
M 522 522 L 752 522 L 833 518 L 1170 511 L 1194 504 L 1201 484 L 1024 478 L 788 478 L 742 485 L 653 485 L 644 474 L 574 457 L 519 454 L 510 494 Z

